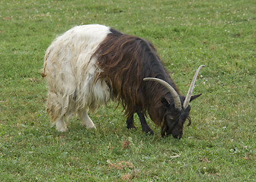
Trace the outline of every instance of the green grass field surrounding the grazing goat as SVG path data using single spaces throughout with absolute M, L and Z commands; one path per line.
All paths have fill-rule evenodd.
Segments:
M 0 2 L 0 181 L 255 181 L 256 4 L 245 1 Z M 184 137 L 126 130 L 116 103 L 50 128 L 43 56 L 57 35 L 105 24 L 151 41 L 181 93 L 200 64 Z

